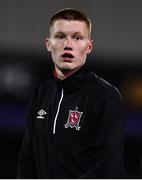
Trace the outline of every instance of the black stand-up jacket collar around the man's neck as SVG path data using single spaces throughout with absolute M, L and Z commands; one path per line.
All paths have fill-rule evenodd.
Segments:
M 75 73 L 73 73 L 71 76 L 67 77 L 65 80 L 60 80 L 57 77 L 55 77 L 57 86 L 60 89 L 63 89 L 64 92 L 72 92 L 72 91 L 76 91 L 80 88 L 83 88 L 83 86 L 86 86 L 86 83 L 89 80 L 89 73 L 90 72 L 90 68 L 88 67 L 88 65 L 84 65 L 83 67 L 81 67 L 78 71 L 76 71 Z M 54 72 L 55 73 L 55 72 Z

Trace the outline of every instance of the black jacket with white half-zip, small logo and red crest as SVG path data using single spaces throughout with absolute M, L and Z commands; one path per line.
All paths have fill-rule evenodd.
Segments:
M 124 105 L 86 66 L 33 95 L 18 178 L 120 178 Z

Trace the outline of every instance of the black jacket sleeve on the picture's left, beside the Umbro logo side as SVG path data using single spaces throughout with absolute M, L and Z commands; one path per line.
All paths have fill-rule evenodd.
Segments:
M 31 104 L 28 110 L 28 122 L 24 133 L 22 146 L 19 153 L 17 164 L 17 178 L 31 179 L 36 178 L 35 159 L 33 149 L 34 135 L 34 112 L 37 104 L 37 93 L 34 91 Z

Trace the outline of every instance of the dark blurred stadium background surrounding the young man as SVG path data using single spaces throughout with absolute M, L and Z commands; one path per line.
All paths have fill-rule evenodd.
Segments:
M 142 178 L 142 1 L 0 0 L 0 178 L 16 178 L 30 97 L 52 76 L 48 20 L 65 7 L 92 20 L 92 70 L 125 100 L 126 178 Z

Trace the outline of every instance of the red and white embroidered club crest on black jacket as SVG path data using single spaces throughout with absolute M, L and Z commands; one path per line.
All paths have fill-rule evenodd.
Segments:
M 69 116 L 68 116 L 68 120 L 67 123 L 65 124 L 65 128 L 71 127 L 71 128 L 76 128 L 76 130 L 79 130 L 79 123 L 80 123 L 80 119 L 82 116 L 83 112 L 79 112 L 77 110 L 72 111 L 69 110 Z

